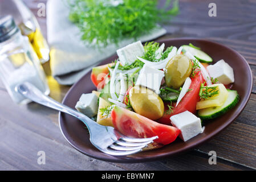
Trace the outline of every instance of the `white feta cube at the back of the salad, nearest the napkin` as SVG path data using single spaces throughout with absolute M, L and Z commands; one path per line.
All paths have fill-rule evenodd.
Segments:
M 122 65 L 132 64 L 137 59 L 136 56 L 141 57 L 144 55 L 144 52 L 143 44 L 140 41 L 129 44 L 116 51 Z

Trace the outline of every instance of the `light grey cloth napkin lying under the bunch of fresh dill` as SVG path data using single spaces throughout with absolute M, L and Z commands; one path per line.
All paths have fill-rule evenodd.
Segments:
M 118 48 L 135 41 L 123 40 L 119 46 L 111 44 L 100 50 L 87 47 L 80 40 L 79 28 L 68 20 L 68 14 L 66 0 L 47 2 L 47 39 L 51 49 L 51 71 L 59 84 L 74 84 L 100 61 L 113 55 Z M 151 34 L 141 36 L 138 40 L 147 42 L 164 34 L 166 30 L 157 27 Z

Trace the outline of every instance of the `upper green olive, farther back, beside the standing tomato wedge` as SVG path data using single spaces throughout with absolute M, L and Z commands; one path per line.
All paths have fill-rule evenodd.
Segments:
M 166 85 L 178 89 L 184 84 L 186 77 L 190 76 L 192 63 L 188 57 L 176 55 L 166 64 L 164 72 Z

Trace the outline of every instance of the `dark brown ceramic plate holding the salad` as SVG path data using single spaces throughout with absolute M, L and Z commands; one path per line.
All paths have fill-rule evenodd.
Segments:
M 166 47 L 176 46 L 177 48 L 184 44 L 192 43 L 194 46 L 201 47 L 202 51 L 208 53 L 213 58 L 213 63 L 224 59 L 234 69 L 235 83 L 232 89 L 237 90 L 241 96 L 241 100 L 237 106 L 235 106 L 225 115 L 206 123 L 204 133 L 197 135 L 187 142 L 182 142 L 182 140 L 178 138 L 173 143 L 170 143 L 157 150 L 145 151 L 131 156 L 120 157 L 107 155 L 97 150 L 97 148 L 92 146 L 89 140 L 89 134 L 87 133 L 84 124 L 68 114 L 60 113 L 60 129 L 72 147 L 76 148 L 76 150 L 82 152 L 83 154 L 91 156 L 92 158 L 106 160 L 109 162 L 147 162 L 191 150 L 192 148 L 202 144 L 206 140 L 218 134 L 238 117 L 249 100 L 253 85 L 253 78 L 249 65 L 237 51 L 234 51 L 233 49 L 221 44 L 202 39 L 169 39 L 162 40 L 160 43 L 165 43 Z M 111 63 L 111 61 L 115 60 L 116 58 L 117 55 L 111 56 L 104 60 L 101 64 Z M 90 93 L 92 90 L 96 89 L 91 82 L 90 75 L 91 72 L 87 73 L 75 85 L 72 86 L 66 97 L 64 97 L 63 104 L 75 108 L 75 104 L 79 100 L 81 94 Z

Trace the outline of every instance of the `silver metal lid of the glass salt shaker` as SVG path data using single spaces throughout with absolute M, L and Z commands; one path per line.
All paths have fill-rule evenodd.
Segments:
M 7 15 L 0 17 L 0 43 L 8 40 L 19 31 L 14 22 L 13 16 Z

